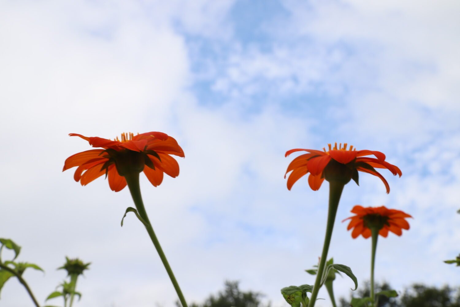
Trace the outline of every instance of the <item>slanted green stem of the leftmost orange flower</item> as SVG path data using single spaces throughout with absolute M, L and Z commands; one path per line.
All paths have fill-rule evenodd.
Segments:
M 176 293 L 179 297 L 179 301 L 181 302 L 183 307 L 187 307 L 187 302 L 185 301 L 184 295 L 180 290 L 179 284 L 176 278 L 174 277 L 173 270 L 171 269 L 171 266 L 169 266 L 166 255 L 165 253 L 163 253 L 163 249 L 161 249 L 160 242 L 158 241 L 155 232 L 153 231 L 152 224 L 150 223 L 149 217 L 147 216 L 147 212 L 145 211 L 144 203 L 142 202 L 141 189 L 139 186 L 139 174 L 127 174 L 125 175 L 125 178 L 128 184 L 129 191 L 131 192 L 132 200 L 134 201 L 136 209 L 138 210 L 138 214 L 140 215 L 140 217 L 144 219 L 144 221 L 147 224 L 145 228 L 147 229 L 147 232 L 149 233 L 149 236 L 152 239 L 152 243 L 155 246 L 158 255 L 160 256 L 163 265 L 165 266 L 165 269 L 169 275 L 169 278 L 171 279 L 171 282 L 173 283 L 174 289 L 176 290 Z

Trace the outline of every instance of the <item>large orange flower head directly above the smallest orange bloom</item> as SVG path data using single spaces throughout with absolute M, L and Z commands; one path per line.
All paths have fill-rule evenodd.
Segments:
M 344 144 L 344 147 L 342 147 L 342 143 L 340 143 L 339 148 L 337 148 L 337 143 L 335 143 L 334 148 L 332 148 L 331 144 L 329 144 L 329 151 L 326 151 L 325 148 L 323 148 L 323 151 L 301 148 L 291 149 L 290 151 L 286 151 L 285 156 L 289 156 L 295 151 L 307 151 L 308 153 L 296 157 L 289 164 L 286 174 L 291 171 L 292 173 L 288 178 L 288 190 L 291 190 L 293 184 L 299 180 L 300 177 L 309 172 L 310 176 L 308 177 L 308 184 L 313 191 L 319 190 L 325 179 L 323 172 L 324 169 L 327 166 L 330 166 L 331 172 L 334 173 L 334 165 L 342 165 L 340 168 L 335 168 L 335 174 L 337 174 L 337 169 L 339 170 L 338 172 L 345 171 L 346 173 L 350 173 L 349 176 L 345 176 L 347 177 L 345 183 L 350 181 L 352 178 L 358 184 L 358 171 L 360 171 L 379 177 L 385 184 L 387 193 L 390 192 L 390 186 L 385 178 L 383 178 L 383 176 L 377 172 L 375 168 L 386 168 L 393 175 L 398 174 L 399 177 L 401 177 L 402 174 L 401 170 L 396 165 L 392 165 L 385 161 L 385 155 L 382 152 L 369 150 L 357 151 L 356 149 L 353 149 L 353 146 L 350 146 L 350 148 L 347 149 L 346 143 Z M 374 155 L 377 159 L 364 157 L 368 155 Z M 284 175 L 284 178 L 286 178 L 286 174 Z

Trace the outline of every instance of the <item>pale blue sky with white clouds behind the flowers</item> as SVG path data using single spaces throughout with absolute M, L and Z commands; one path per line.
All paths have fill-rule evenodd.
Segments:
M 460 252 L 459 13 L 454 0 L 2 0 L 0 237 L 46 271 L 24 273 L 41 303 L 67 255 L 92 263 L 75 306 L 173 306 L 141 223 L 120 227 L 129 191 L 62 172 L 90 149 L 68 133 L 161 131 L 184 149 L 180 174 L 141 176 L 141 189 L 187 301 L 228 279 L 288 306 L 281 288 L 314 283 L 328 185 L 288 191 L 284 153 L 341 142 L 384 152 L 403 176 L 382 170 L 390 194 L 367 174 L 345 186 L 329 256 L 368 280 L 371 242 L 341 220 L 385 205 L 414 219 L 379 240 L 376 280 L 458 286 L 443 260 Z M 338 278 L 336 296 L 352 285 Z M 31 301 L 11 280 L 0 305 Z

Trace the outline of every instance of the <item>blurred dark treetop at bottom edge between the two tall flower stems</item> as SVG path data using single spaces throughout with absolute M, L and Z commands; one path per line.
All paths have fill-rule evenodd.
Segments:
M 239 289 L 237 281 L 226 281 L 225 289 L 217 295 L 210 295 L 203 304 L 192 303 L 190 307 L 265 307 L 259 292 L 243 292 Z M 180 304 L 177 302 L 178 307 Z M 270 307 L 268 304 L 266 307 Z

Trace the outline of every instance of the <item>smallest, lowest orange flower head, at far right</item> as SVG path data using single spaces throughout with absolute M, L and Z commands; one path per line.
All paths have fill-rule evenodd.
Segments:
M 354 239 L 359 235 L 367 239 L 372 235 L 370 228 L 373 227 L 379 229 L 379 234 L 382 237 L 388 236 L 388 231 L 401 236 L 403 229 L 409 229 L 409 223 L 405 218 L 412 217 L 401 210 L 387 209 L 385 206 L 363 208 L 356 205 L 351 210 L 351 213 L 356 215 L 345 220 L 350 220 L 347 230 L 354 228 L 353 232 L 351 232 L 351 237 Z M 342 222 L 345 222 L 345 220 Z

